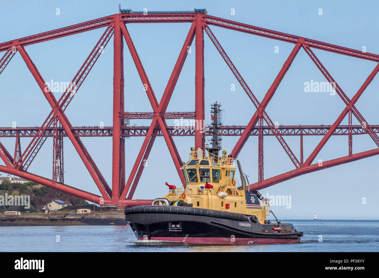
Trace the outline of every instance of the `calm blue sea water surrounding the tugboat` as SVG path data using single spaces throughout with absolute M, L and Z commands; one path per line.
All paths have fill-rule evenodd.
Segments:
M 298 231 L 303 231 L 302 241 L 273 245 L 189 245 L 136 241 L 130 226 L 29 226 L 0 227 L 0 244 L 6 246 L 3 252 L 379 252 L 378 220 L 282 222 L 293 223 Z

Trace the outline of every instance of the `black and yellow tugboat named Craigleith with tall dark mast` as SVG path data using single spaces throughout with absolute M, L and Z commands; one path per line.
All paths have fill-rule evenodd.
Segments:
M 181 188 L 166 185 L 169 192 L 152 205 L 125 209 L 125 220 L 138 240 L 190 244 L 288 244 L 303 233 L 293 224 L 277 221 L 269 200 L 258 191 L 246 190 L 240 162 L 221 150 L 218 129 L 220 104 L 211 106 L 212 146 L 203 152 L 191 148 L 189 161 L 180 168 Z M 235 178 L 237 163 L 241 184 Z M 247 180 L 248 183 L 248 180 Z M 273 214 L 276 223 L 267 220 Z

